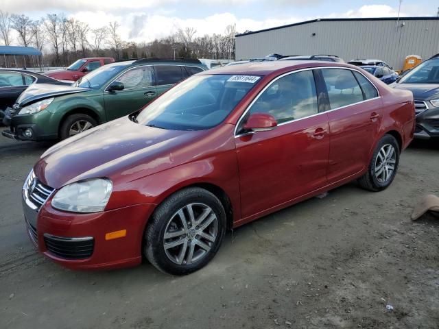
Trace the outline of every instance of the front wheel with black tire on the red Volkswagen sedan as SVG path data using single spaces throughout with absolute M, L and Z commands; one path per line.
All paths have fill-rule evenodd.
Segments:
M 194 221 L 190 219 L 189 208 Z M 209 263 L 225 232 L 226 212 L 219 199 L 204 188 L 185 188 L 165 199 L 154 211 L 145 230 L 143 253 L 160 271 L 182 276 Z

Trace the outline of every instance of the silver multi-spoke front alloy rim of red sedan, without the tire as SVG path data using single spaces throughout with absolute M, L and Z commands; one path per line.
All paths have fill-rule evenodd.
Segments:
M 187 204 L 167 223 L 163 236 L 165 254 L 178 265 L 193 264 L 208 254 L 217 233 L 218 219 L 211 207 Z

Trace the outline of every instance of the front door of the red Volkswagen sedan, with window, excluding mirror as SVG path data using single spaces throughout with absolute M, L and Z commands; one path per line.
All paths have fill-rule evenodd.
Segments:
M 250 114 L 272 114 L 278 126 L 242 134 Z M 305 195 L 327 183 L 329 123 L 319 112 L 313 71 L 270 83 L 239 122 L 235 143 L 243 218 Z

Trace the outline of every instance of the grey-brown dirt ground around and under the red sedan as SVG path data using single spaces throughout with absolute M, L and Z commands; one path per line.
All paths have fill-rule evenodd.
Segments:
M 0 138 L 0 328 L 439 328 L 439 218 L 410 220 L 439 195 L 439 141 L 413 143 L 386 191 L 348 184 L 259 219 L 185 277 L 37 254 L 21 186 L 49 146 Z

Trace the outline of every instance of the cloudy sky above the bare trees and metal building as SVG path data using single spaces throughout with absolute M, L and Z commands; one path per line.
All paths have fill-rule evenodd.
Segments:
M 403 0 L 401 16 L 436 16 L 438 0 Z M 397 16 L 399 1 L 334 0 L 0 0 L 0 9 L 39 19 L 64 13 L 92 28 L 119 21 L 124 40 L 148 42 L 194 27 L 197 36 L 264 29 L 317 18 Z

